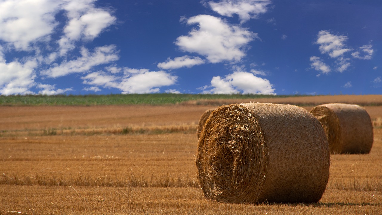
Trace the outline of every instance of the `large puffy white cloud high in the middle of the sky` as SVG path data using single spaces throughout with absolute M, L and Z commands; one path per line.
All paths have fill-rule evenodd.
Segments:
M 246 55 L 248 43 L 259 39 L 256 33 L 215 16 L 193 16 L 187 24 L 198 24 L 199 28 L 191 30 L 188 36 L 178 37 L 175 44 L 185 52 L 206 56 L 211 63 L 240 61 Z

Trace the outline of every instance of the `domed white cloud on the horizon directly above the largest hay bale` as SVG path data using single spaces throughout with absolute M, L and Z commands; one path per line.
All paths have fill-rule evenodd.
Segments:
M 226 77 L 220 76 L 213 77 L 211 85 L 203 93 L 213 94 L 275 94 L 269 80 L 256 77 L 253 73 L 249 72 L 233 72 Z

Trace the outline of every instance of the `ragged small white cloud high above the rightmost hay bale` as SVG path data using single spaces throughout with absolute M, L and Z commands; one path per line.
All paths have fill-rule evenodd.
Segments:
M 317 34 L 316 44 L 319 44 L 321 54 L 329 54 L 332 58 L 337 58 L 351 49 L 345 48 L 344 42 L 348 39 L 347 36 L 337 36 L 329 31 L 322 30 Z

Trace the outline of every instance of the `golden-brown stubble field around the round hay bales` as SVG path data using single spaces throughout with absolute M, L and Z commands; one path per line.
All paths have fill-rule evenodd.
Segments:
M 359 103 L 374 125 L 370 154 L 331 155 L 329 183 L 317 204 L 225 204 L 203 197 L 194 161 L 199 117 L 248 101 L 0 106 L 0 214 L 382 213 L 380 96 L 293 99 L 301 98 L 261 102 L 306 104 L 308 111 L 322 103 Z

